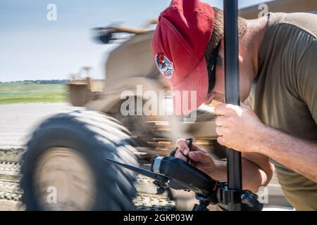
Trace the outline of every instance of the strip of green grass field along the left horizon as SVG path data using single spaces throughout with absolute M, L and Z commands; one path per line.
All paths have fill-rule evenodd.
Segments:
M 67 101 L 66 84 L 0 84 L 0 104 Z

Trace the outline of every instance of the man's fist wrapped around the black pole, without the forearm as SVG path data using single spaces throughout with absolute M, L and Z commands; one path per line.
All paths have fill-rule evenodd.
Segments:
M 216 105 L 217 141 L 222 146 L 246 153 L 259 152 L 261 131 L 266 129 L 256 114 L 247 105 Z

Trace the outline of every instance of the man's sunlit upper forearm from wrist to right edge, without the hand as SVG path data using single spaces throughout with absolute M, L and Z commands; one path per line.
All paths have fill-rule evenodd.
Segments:
M 266 127 L 257 152 L 317 182 L 317 143 L 311 143 Z

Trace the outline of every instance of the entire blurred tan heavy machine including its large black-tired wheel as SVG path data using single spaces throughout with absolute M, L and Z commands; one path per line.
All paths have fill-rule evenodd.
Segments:
M 300 4 L 296 0 L 269 1 L 266 5 L 271 12 L 317 11 L 316 0 Z M 242 8 L 240 16 L 256 18 L 260 11 L 258 6 Z M 188 115 L 174 117 L 168 111 L 173 108 L 172 97 L 166 94 L 157 102 L 157 108 L 165 113 L 123 115 L 122 106 L 128 99 L 135 102 L 132 111 L 143 112 L 149 100 L 144 93 L 159 96 L 160 91 L 169 91 L 151 57 L 151 27 L 156 23 L 151 20 L 144 27 L 110 25 L 92 30 L 99 43 L 120 45 L 104 63 L 105 79 L 96 82 L 90 68 L 82 68 L 80 74 L 85 77 L 74 75 L 68 84 L 75 108 L 42 122 L 28 141 L 20 181 L 27 210 L 134 210 L 135 174 L 104 159 L 137 166 L 154 155 L 168 155 L 179 138 L 194 138 L 194 143 L 209 150 L 215 159 L 226 157 L 216 142 L 213 105 L 201 105 L 193 121 Z M 271 194 L 287 205 L 275 183 Z

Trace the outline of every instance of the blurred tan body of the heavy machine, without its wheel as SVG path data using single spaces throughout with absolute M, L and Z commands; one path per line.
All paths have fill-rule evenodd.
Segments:
M 156 20 L 147 24 L 153 25 Z M 142 148 L 142 151 L 149 155 L 166 154 L 175 140 L 180 137 L 194 136 L 196 143 L 214 150 L 213 140 L 216 139 L 216 132 L 213 123 L 213 108 L 203 105 L 197 110 L 196 122 L 182 122 L 183 117 L 173 117 L 168 113 L 172 109 L 171 96 L 165 96 L 158 102 L 158 108 L 164 108 L 167 115 L 125 115 L 120 113 L 122 103 L 121 94 L 130 91 L 135 102 L 135 112 L 141 110 L 147 101 L 143 94 L 147 91 L 168 91 L 169 86 L 159 74 L 151 59 L 151 37 L 154 30 L 144 28 L 130 28 L 123 26 L 98 27 L 94 29 L 98 41 L 104 44 L 113 41 L 122 41 L 120 35 L 124 33 L 132 36 L 120 46 L 111 51 L 106 61 L 106 79 L 104 89 L 98 91 L 94 81 L 86 79 L 75 79 L 70 82 L 70 102 L 75 106 L 85 106 L 90 110 L 107 113 L 118 119 L 127 127 L 133 137 Z M 122 37 L 122 36 L 121 36 Z M 123 35 L 123 39 L 126 35 Z M 142 92 L 137 87 L 142 87 Z M 140 108 L 140 109 L 139 109 Z M 173 131 L 172 131 L 173 130 Z M 140 149 L 140 148 L 139 148 Z

